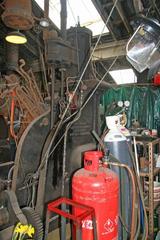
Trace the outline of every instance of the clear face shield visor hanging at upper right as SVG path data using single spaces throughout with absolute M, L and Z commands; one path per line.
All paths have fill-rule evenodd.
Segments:
M 160 59 L 160 24 L 153 19 L 140 18 L 141 23 L 126 46 L 127 60 L 143 72 Z

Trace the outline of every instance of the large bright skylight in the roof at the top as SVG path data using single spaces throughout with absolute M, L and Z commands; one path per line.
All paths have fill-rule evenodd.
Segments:
M 36 0 L 44 9 L 44 0 Z M 60 28 L 60 0 L 50 0 L 49 17 Z M 67 0 L 67 28 L 74 27 L 80 21 L 81 26 L 92 30 L 93 36 L 99 35 L 104 27 L 104 22 L 94 7 L 92 0 Z M 109 32 L 105 27 L 103 33 Z

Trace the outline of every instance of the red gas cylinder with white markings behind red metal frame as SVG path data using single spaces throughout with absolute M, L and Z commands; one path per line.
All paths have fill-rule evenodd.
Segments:
M 99 151 L 85 152 L 84 168 L 73 176 L 72 197 L 95 209 L 98 240 L 117 240 L 119 180 L 113 171 L 99 165 L 102 156 Z M 81 213 L 82 210 L 74 209 L 76 216 Z M 82 239 L 93 240 L 90 217 L 82 221 Z

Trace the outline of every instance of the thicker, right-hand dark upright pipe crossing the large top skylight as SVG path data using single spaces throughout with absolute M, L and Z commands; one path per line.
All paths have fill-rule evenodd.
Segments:
M 61 0 L 61 34 L 63 40 L 67 37 L 67 1 Z

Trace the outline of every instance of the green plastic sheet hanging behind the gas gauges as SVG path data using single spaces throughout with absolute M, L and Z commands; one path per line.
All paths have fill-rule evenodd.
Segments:
M 130 101 L 127 111 L 127 127 L 132 126 L 132 120 L 137 119 L 141 127 L 155 129 L 160 126 L 160 89 L 155 87 L 119 87 L 109 89 L 102 96 L 101 103 L 105 116 L 114 115 L 120 111 L 116 107 L 118 101 Z

